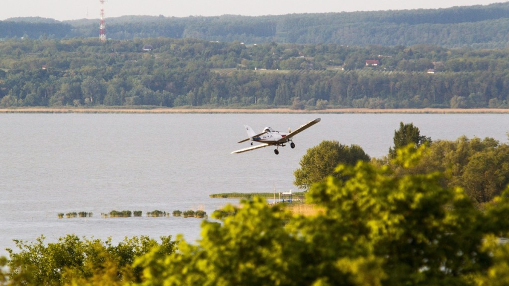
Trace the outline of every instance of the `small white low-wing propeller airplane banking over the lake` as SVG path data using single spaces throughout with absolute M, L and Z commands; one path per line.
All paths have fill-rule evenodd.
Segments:
M 247 135 L 249 136 L 246 139 L 243 139 L 239 141 L 239 143 L 251 140 L 251 146 L 253 145 L 253 142 L 260 142 L 260 145 L 252 146 L 244 149 L 240 149 L 237 151 L 232 152 L 232 154 L 242 153 L 246 151 L 256 150 L 268 146 L 276 146 L 276 149 L 274 149 L 274 153 L 277 155 L 279 154 L 279 146 L 285 147 L 286 143 L 290 142 L 290 147 L 293 149 L 295 148 L 295 143 L 293 142 L 293 136 L 297 135 L 298 133 L 304 131 L 305 129 L 317 124 L 320 122 L 320 118 L 317 118 L 313 121 L 309 121 L 308 123 L 301 125 L 299 128 L 295 129 L 294 131 L 291 131 L 290 129 L 287 132 L 280 132 L 275 131 L 274 129 L 270 127 L 265 127 L 262 133 L 256 134 L 252 130 L 252 128 L 249 125 L 244 125 L 247 131 Z

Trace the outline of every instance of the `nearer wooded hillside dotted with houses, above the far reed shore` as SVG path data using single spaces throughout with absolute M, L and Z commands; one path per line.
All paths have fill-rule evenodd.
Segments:
M 0 42 L 0 106 L 507 107 L 509 50 L 246 45 L 196 39 Z

